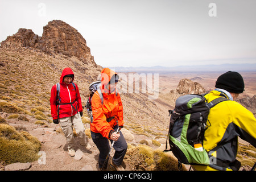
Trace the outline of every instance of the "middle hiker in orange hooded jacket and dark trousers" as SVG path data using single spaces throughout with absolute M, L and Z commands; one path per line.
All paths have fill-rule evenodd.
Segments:
M 115 168 L 123 169 L 121 164 L 127 151 L 127 143 L 122 132 L 116 132 L 118 127 L 119 129 L 123 127 L 123 105 L 121 97 L 115 88 L 118 78 L 117 73 L 111 69 L 102 69 L 100 90 L 103 102 L 100 96 L 101 93 L 98 93 L 98 91 L 92 97 L 93 122 L 90 123 L 90 131 L 93 142 L 100 150 L 98 158 L 100 169 L 103 167 L 110 149 L 108 139 L 111 142 L 115 141 L 113 146 L 115 154 L 110 162 Z

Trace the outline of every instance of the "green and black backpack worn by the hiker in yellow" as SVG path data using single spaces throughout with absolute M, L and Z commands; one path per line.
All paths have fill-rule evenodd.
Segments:
M 180 167 L 181 163 L 210 164 L 210 156 L 203 148 L 204 132 L 210 126 L 208 114 L 210 108 L 228 99 L 219 97 L 208 103 L 204 96 L 205 94 L 181 96 L 176 100 L 175 109 L 169 110 L 171 119 L 164 152 L 172 151 Z M 170 150 L 167 150 L 168 140 Z

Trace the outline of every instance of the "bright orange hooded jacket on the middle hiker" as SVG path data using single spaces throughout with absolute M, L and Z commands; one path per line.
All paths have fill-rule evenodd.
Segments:
M 110 92 L 108 89 L 108 83 L 110 78 L 117 75 L 109 68 L 104 68 L 101 71 L 101 92 L 104 98 L 103 104 L 101 102 L 98 91 L 93 94 L 92 97 L 92 112 L 93 122 L 90 123 L 90 130 L 94 133 L 100 133 L 103 137 L 110 139 L 110 135 L 113 133 L 113 127 L 117 125 L 123 126 L 123 105 L 121 97 L 117 92 L 117 89 Z M 108 122 L 107 118 L 115 117 L 112 121 Z

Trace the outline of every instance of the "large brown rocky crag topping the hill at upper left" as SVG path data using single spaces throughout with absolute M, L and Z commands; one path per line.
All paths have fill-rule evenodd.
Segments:
M 8 36 L 1 43 L 1 47 L 10 46 L 40 49 L 49 55 L 59 53 L 68 57 L 76 56 L 84 63 L 96 66 L 90 48 L 86 46 L 86 40 L 75 28 L 61 20 L 48 22 L 44 26 L 42 37 L 30 29 L 20 28 L 15 35 Z

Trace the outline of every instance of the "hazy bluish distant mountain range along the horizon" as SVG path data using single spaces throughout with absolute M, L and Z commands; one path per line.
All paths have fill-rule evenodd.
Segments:
M 185 65 L 178 67 L 110 67 L 115 72 L 173 73 L 173 72 L 256 72 L 256 64 Z

